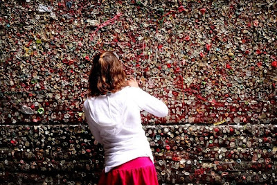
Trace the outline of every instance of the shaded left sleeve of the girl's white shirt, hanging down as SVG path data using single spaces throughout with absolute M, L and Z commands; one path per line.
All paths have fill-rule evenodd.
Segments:
M 91 118 L 91 115 L 89 114 L 89 107 L 88 107 L 88 103 L 87 100 L 84 101 L 84 115 L 86 116 L 87 119 L 87 124 L 89 125 L 89 130 L 91 130 L 91 133 L 93 134 L 94 138 L 96 139 L 96 141 L 98 141 L 98 143 L 103 143 L 102 138 L 100 136 L 100 132 L 98 130 L 98 127 L 96 127 L 94 124 L 95 121 L 93 121 L 93 118 Z

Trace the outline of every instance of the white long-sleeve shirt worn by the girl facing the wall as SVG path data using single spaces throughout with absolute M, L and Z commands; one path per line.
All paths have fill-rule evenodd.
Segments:
M 137 157 L 150 157 L 152 151 L 141 125 L 141 110 L 154 116 L 168 115 L 168 107 L 138 87 L 124 87 L 110 95 L 84 101 L 89 130 L 103 144 L 105 172 Z

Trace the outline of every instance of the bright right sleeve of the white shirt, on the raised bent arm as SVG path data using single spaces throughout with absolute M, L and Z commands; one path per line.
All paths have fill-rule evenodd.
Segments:
M 168 107 L 163 101 L 148 94 L 138 87 L 131 87 L 134 91 L 134 101 L 139 105 L 140 109 L 153 114 L 158 117 L 165 117 L 168 115 Z

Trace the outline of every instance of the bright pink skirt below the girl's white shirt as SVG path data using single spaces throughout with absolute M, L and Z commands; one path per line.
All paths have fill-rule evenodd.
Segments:
M 139 157 L 102 172 L 98 185 L 159 185 L 154 164 L 149 157 Z

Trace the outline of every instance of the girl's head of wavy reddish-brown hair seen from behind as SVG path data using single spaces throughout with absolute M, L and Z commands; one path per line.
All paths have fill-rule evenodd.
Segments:
M 89 96 L 116 92 L 127 86 L 126 74 L 114 53 L 104 51 L 93 58 L 89 74 Z

